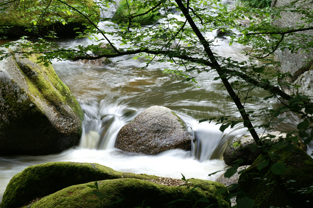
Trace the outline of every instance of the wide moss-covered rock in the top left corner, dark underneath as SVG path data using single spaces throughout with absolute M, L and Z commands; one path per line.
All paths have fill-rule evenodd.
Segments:
M 9 2 L 9 1 L 8 1 Z M 93 21 L 99 20 L 100 10 L 93 0 L 67 0 L 66 3 L 85 13 Z M 76 36 L 89 23 L 80 13 L 58 1 L 12 1 L 0 7 L 0 27 L 10 27 L 0 36 L 52 35 Z M 74 28 L 78 28 L 74 30 Z

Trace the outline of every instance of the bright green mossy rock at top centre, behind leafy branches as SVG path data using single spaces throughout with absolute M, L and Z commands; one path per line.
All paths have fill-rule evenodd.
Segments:
M 122 1 L 116 7 L 116 12 L 113 16 L 113 21 L 121 24 L 127 24 L 129 22 L 129 16 L 135 16 L 145 13 L 154 7 L 157 1 L 148 1 L 142 3 L 140 1 Z M 131 18 L 131 23 L 137 23 L 139 25 L 151 25 L 161 19 L 161 14 L 155 9 L 153 12 L 149 12 L 145 15 Z

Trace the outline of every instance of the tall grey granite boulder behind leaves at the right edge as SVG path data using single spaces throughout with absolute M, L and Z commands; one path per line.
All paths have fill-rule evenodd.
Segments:
M 283 7 L 290 5 L 294 0 L 273 0 L 271 7 Z M 307 1 L 299 1 L 295 5 L 303 6 L 305 9 L 313 9 L 313 4 Z M 280 14 L 281 18 L 277 18 L 273 21 L 273 24 L 281 28 L 295 27 L 304 23 L 304 15 L 295 12 L 283 12 Z M 304 25 L 304 28 L 312 27 L 313 23 Z M 313 30 L 301 31 L 297 33 L 303 33 L 308 35 L 305 42 L 312 41 Z M 285 37 L 286 39 L 286 37 Z M 288 38 L 287 38 L 288 39 Z M 313 73 L 312 66 L 313 53 L 302 53 L 303 50 L 299 50 L 298 53 L 291 53 L 289 49 L 275 51 L 274 60 L 279 61 L 280 64 L 275 66 L 277 72 L 290 73 L 292 77 L 286 77 L 284 80 L 292 84 L 300 85 L 300 88 L 289 88 L 287 85 L 281 85 L 282 89 L 289 94 L 304 94 L 313 96 L 311 87 L 313 87 Z

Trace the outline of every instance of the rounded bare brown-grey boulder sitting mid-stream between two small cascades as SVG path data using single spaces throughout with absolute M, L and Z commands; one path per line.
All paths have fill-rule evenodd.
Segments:
M 175 113 L 163 106 L 151 106 L 121 128 L 115 147 L 156 155 L 172 149 L 191 150 L 191 140 L 186 124 Z

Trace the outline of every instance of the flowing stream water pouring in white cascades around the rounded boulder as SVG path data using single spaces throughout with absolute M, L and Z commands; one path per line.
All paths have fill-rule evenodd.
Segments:
M 112 8 L 102 13 L 102 16 L 108 17 L 114 12 Z M 213 34 L 208 33 L 206 36 L 214 38 Z M 92 42 L 88 38 L 59 41 L 60 45 L 68 47 L 89 43 Z M 216 44 L 213 50 L 221 56 L 239 61 L 246 58 L 241 54 L 242 46 L 229 46 L 227 38 L 217 39 Z M 117 60 L 123 61 L 116 62 Z M 222 133 L 219 125 L 198 123 L 199 119 L 239 115 L 236 106 L 226 98 L 223 85 L 219 80 L 213 80 L 217 74 L 200 74 L 197 77 L 200 88 L 195 88 L 180 83 L 182 78 L 174 74 L 163 74 L 162 70 L 168 67 L 168 63 L 156 63 L 138 69 L 146 65 L 143 58 L 134 60 L 122 57 L 113 58 L 112 61 L 112 64 L 105 67 L 71 61 L 53 62 L 59 78 L 69 87 L 85 111 L 81 143 L 53 155 L 0 157 L 0 201 L 13 175 L 30 165 L 52 161 L 93 162 L 118 171 L 172 178 L 181 178 L 181 174 L 184 174 L 186 178 L 215 180 L 223 173 L 208 177 L 208 174 L 227 166 L 222 160 L 225 146 L 232 138 L 246 134 L 246 129 L 237 125 Z M 268 103 L 269 106 L 275 104 Z M 152 105 L 172 109 L 187 123 L 197 140 L 192 143 L 191 151 L 168 150 L 158 155 L 139 155 L 114 148 L 119 129 Z

